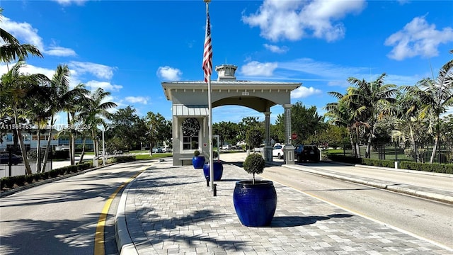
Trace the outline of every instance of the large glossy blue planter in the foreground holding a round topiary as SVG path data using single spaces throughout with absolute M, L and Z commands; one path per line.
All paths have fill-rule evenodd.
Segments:
M 242 225 L 270 225 L 277 208 L 277 192 L 272 181 L 237 181 L 233 193 L 236 214 Z

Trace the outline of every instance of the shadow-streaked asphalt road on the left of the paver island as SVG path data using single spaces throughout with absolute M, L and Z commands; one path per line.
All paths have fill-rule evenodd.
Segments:
M 149 162 L 115 164 L 0 199 L 0 254 L 96 254 L 96 227 L 108 198 Z M 106 213 L 105 254 L 117 252 Z

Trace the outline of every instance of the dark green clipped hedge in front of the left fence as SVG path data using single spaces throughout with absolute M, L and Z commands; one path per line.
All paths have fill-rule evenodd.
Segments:
M 4 177 L 0 181 L 1 189 L 15 188 L 15 186 L 24 186 L 26 184 L 33 183 L 33 181 L 40 181 L 40 180 L 55 178 L 57 176 L 62 176 L 64 174 L 71 174 L 71 173 L 76 173 L 78 171 L 84 171 L 84 170 L 90 169 L 92 167 L 93 167 L 93 164 L 90 162 L 90 163 L 84 163 L 84 164 L 77 164 L 74 166 L 64 166 L 59 169 L 53 169 L 48 172 L 39 173 L 39 174 L 28 174 L 28 175 L 21 175 L 21 176 Z

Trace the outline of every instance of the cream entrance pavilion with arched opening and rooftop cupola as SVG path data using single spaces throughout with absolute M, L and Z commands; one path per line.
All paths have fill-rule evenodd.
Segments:
M 278 81 L 237 81 L 237 67 L 231 64 L 217 66 L 217 81 L 211 81 L 212 108 L 217 106 L 246 106 L 265 116 L 266 162 L 272 162 L 270 143 L 270 108 L 279 104 L 285 108 L 285 163 L 294 164 L 291 138 L 291 91 L 301 83 Z M 205 81 L 162 82 L 167 100 L 173 111 L 173 166 L 192 164 L 195 150 L 209 155 L 209 108 Z M 234 113 L 231 113 L 234 115 Z M 216 134 L 213 134 L 216 135 Z M 189 163 L 190 162 L 190 163 Z

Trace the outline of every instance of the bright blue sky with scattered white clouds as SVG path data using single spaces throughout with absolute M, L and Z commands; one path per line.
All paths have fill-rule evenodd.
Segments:
M 203 79 L 202 0 L 0 0 L 0 6 L 0 26 L 44 55 L 30 57 L 24 72 L 52 77 L 58 64 L 68 64 L 72 86 L 102 87 L 118 108 L 133 106 L 140 116 L 152 111 L 171 120 L 161 82 Z M 453 57 L 452 10 L 453 1 L 213 0 L 213 64 L 237 65 L 240 80 L 302 82 L 292 103 L 323 115 L 336 101 L 327 92 L 344 93 L 348 77 L 369 81 L 386 73 L 386 83 L 398 86 L 432 77 L 431 69 L 437 77 Z M 271 111 L 274 121 L 283 108 Z M 248 116 L 264 119 L 240 106 L 213 109 L 214 123 Z

